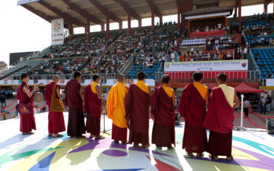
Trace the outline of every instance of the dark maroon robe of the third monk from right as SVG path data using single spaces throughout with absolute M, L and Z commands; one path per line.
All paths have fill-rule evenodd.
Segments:
M 152 144 L 171 148 L 175 146 L 175 109 L 173 98 L 166 94 L 164 88 L 155 88 L 151 96 L 151 114 L 154 120 Z

